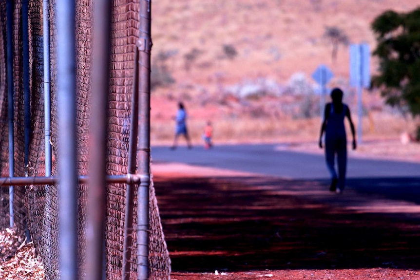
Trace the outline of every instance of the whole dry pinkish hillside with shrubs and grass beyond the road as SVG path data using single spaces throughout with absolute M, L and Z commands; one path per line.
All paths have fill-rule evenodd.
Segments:
M 350 43 L 375 47 L 372 20 L 385 10 L 405 12 L 416 0 L 158 0 L 153 2 L 152 144 L 172 139 L 172 117 L 185 102 L 195 142 L 211 120 L 215 141 L 307 141 L 317 138 L 320 98 L 311 73 L 323 63 L 329 87 L 348 86 L 349 51 L 332 59 L 326 27 Z M 377 68 L 375 57 L 372 72 Z M 416 121 L 384 105 L 377 91 L 363 97 L 363 136 L 397 138 Z

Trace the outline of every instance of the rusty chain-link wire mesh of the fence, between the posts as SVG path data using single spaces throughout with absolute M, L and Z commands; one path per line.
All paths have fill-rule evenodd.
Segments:
M 53 149 L 53 174 L 57 174 L 57 29 L 55 2 L 50 1 L 51 29 L 51 143 Z M 131 93 L 133 84 L 134 45 L 138 37 L 139 1 L 114 0 L 112 16 L 112 57 L 110 73 L 110 116 L 108 140 L 108 174 L 127 172 L 128 141 L 130 131 Z M 89 114 L 90 114 L 90 67 L 92 50 L 93 0 L 76 0 L 76 88 L 77 88 L 77 167 L 79 175 L 88 174 Z M 14 21 L 14 89 L 15 89 L 15 176 L 43 176 L 45 174 L 44 152 L 44 93 L 43 93 L 43 31 L 42 0 L 29 1 L 29 48 L 31 89 L 31 140 L 29 164 L 24 166 L 23 142 L 23 89 L 22 83 L 22 32 L 21 0 L 15 0 Z M 6 19 L 5 1 L 0 3 L 0 15 Z M 7 72 L 6 72 L 6 23 L 0 22 L 0 172 L 8 176 L 8 124 L 7 124 Z M 59 186 L 15 187 L 15 221 L 23 234 L 25 220 L 39 255 L 45 265 L 47 279 L 59 279 L 58 272 L 58 188 Z M 26 189 L 26 192 L 24 190 Z M 126 187 L 124 184 L 107 186 L 106 220 L 106 269 L 107 279 L 121 279 L 123 254 L 123 228 Z M 80 274 L 84 275 L 82 264 L 85 248 L 87 186 L 78 188 L 78 237 Z M 0 188 L 0 227 L 7 227 L 9 195 L 7 188 Z M 136 198 L 134 223 L 136 227 Z M 150 264 L 151 279 L 169 279 L 171 261 L 166 247 L 153 182 L 150 188 Z M 134 231 L 130 260 L 131 276 L 136 277 L 136 236 Z

